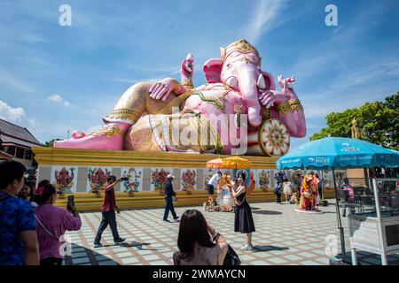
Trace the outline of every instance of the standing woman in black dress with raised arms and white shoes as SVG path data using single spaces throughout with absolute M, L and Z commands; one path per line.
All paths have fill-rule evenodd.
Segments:
M 252 233 L 255 231 L 254 219 L 251 208 L 246 203 L 246 175 L 239 174 L 239 179 L 234 180 L 232 195 L 236 203 L 234 232 L 246 233 L 246 243 L 240 248 L 242 250 L 253 250 Z

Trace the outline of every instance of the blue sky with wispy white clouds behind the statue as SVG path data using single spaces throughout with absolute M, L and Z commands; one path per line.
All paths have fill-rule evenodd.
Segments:
M 72 27 L 59 26 L 59 6 Z M 338 27 L 325 6 L 338 7 Z M 294 75 L 309 141 L 325 115 L 399 91 L 399 1 L 0 0 L 0 118 L 41 141 L 91 131 L 137 81 L 173 76 L 195 60 L 194 84 L 219 47 L 240 38 L 262 69 Z

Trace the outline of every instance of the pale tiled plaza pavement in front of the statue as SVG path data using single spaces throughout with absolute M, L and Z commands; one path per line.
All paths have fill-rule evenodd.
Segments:
M 310 215 L 294 211 L 293 204 L 251 203 L 256 232 L 253 236 L 254 251 L 241 251 L 245 236 L 233 232 L 234 213 L 204 212 L 207 222 L 215 226 L 237 251 L 242 264 L 299 264 L 325 265 L 329 257 L 325 254 L 326 237 L 338 243 L 335 207 L 330 204 L 322 209 L 324 214 Z M 201 207 L 177 207 L 179 216 L 187 209 Z M 101 220 L 101 213 L 81 213 L 82 230 L 68 232 L 72 242 L 72 256 L 66 256 L 64 264 L 77 265 L 166 265 L 173 264 L 172 255 L 177 250 L 176 239 L 179 224 L 162 221 L 163 209 L 122 210 L 117 216 L 118 229 L 127 241 L 113 244 L 109 228 L 103 233 L 103 247 L 94 249 L 92 243 Z M 171 219 L 171 216 L 169 216 Z M 347 227 L 347 218 L 342 218 Z M 348 229 L 345 229 L 347 251 L 349 251 Z M 359 255 L 361 264 L 380 264 L 379 256 Z M 389 264 L 398 264 L 398 256 L 388 257 Z

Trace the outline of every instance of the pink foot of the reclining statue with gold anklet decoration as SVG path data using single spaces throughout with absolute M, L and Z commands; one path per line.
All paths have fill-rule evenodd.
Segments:
M 100 131 L 83 137 L 54 142 L 54 148 L 63 149 L 123 149 L 123 137 L 129 123 L 106 124 Z

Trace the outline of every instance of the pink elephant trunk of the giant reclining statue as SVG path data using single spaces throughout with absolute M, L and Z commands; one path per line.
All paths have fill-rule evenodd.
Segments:
M 261 103 L 256 85 L 260 73 L 256 65 L 252 64 L 240 66 L 237 72 L 239 92 L 248 108 L 248 121 L 251 126 L 260 126 L 262 123 Z

